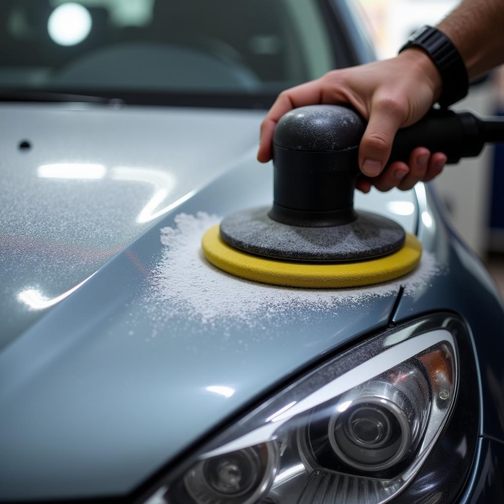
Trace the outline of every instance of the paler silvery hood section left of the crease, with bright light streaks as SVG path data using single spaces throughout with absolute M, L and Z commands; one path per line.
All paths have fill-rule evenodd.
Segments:
M 0 116 L 2 349 L 253 149 L 262 113 L 2 104 Z

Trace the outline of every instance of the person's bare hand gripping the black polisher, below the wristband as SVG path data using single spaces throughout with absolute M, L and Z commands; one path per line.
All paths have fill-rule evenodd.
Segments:
M 289 110 L 317 103 L 350 103 L 368 121 L 359 146 L 359 167 L 365 177 L 357 180 L 357 188 L 364 193 L 371 185 L 380 191 L 411 189 L 419 180 L 438 175 L 447 157 L 417 147 L 408 164 L 395 161 L 387 166 L 392 143 L 399 128 L 414 124 L 427 113 L 441 86 L 430 58 L 415 48 L 392 59 L 328 72 L 280 93 L 261 124 L 258 160 L 265 163 L 271 159 L 276 123 Z

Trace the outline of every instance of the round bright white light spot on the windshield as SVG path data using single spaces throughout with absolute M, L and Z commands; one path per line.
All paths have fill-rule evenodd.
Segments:
M 91 14 L 81 4 L 69 2 L 52 11 L 47 21 L 51 39 L 59 45 L 76 45 L 91 32 Z

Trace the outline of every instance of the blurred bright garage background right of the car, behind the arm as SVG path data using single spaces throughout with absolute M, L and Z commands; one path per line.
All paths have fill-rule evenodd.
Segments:
M 358 0 L 380 59 L 392 57 L 414 31 L 434 25 L 458 0 Z M 480 115 L 504 114 L 504 70 L 473 83 L 469 96 L 454 108 Z M 433 182 L 445 201 L 453 225 L 486 262 L 504 295 L 504 148 L 485 147 L 482 154 L 448 166 Z

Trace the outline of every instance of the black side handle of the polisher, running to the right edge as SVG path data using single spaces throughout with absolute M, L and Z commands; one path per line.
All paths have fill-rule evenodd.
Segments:
M 487 142 L 504 142 L 504 119 L 482 119 L 470 111 L 432 109 L 423 119 L 397 132 L 390 162 L 408 162 L 416 147 L 444 152 L 448 163 L 479 155 Z

